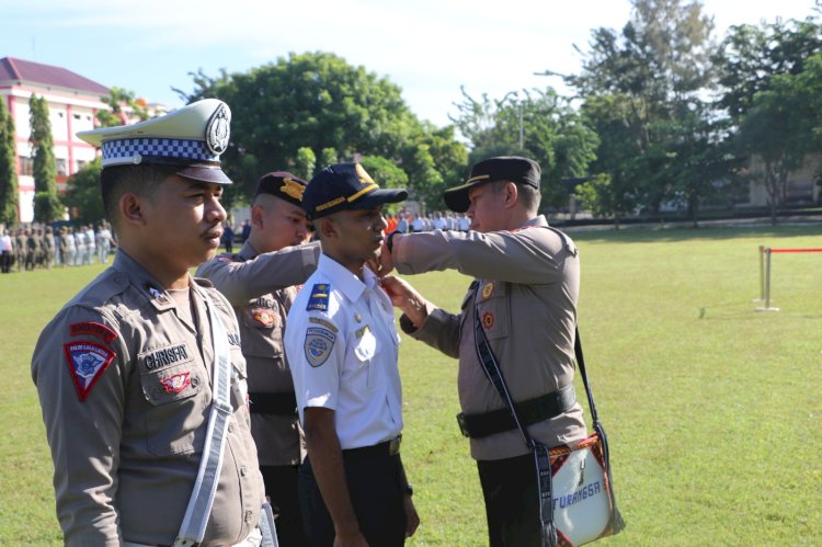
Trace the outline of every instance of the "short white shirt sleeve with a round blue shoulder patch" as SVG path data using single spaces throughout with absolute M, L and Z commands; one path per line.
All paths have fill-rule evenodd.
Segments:
M 336 409 L 345 358 L 345 335 L 320 311 L 289 317 L 286 356 L 300 412 L 306 407 Z

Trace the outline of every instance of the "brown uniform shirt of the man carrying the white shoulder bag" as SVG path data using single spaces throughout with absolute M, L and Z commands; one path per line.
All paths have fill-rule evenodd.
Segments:
M 504 408 L 486 377 L 475 350 L 475 300 L 491 349 L 515 401 L 555 391 L 573 381 L 574 328 L 580 289 L 580 261 L 539 216 L 515 231 L 433 231 L 397 236 L 397 271 L 416 274 L 454 269 L 480 282 L 469 290 L 460 315 L 430 309 L 422 328 L 403 318 L 413 338 L 459 358 L 459 402 L 466 413 Z M 573 444 L 585 436 L 582 408 L 528 428 L 548 446 Z M 471 440 L 476 459 L 527 454 L 518 430 Z

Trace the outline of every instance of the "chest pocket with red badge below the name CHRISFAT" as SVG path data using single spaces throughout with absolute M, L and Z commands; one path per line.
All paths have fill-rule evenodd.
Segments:
M 181 358 L 169 363 L 172 355 Z M 138 360 L 148 403 L 144 415 L 148 451 L 156 456 L 194 452 L 207 396 L 205 371 L 185 345 L 152 350 Z

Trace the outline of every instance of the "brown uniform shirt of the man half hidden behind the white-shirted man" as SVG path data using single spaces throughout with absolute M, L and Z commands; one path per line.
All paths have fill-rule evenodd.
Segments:
M 259 254 L 247 241 L 239 253 L 221 254 L 197 270 L 197 275 L 210 280 L 237 312 L 249 371 L 251 434 L 263 466 L 296 465 L 306 454 L 296 401 L 294 412 L 287 415 L 260 412 L 254 399 L 255 395 L 294 397 L 283 350 L 285 318 L 297 295 L 295 285 L 311 275 L 319 254 L 319 243 Z

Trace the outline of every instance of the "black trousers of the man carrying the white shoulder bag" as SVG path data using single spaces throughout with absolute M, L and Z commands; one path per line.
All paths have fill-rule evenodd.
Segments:
M 478 460 L 491 547 L 538 547 L 539 489 L 534 455 Z

